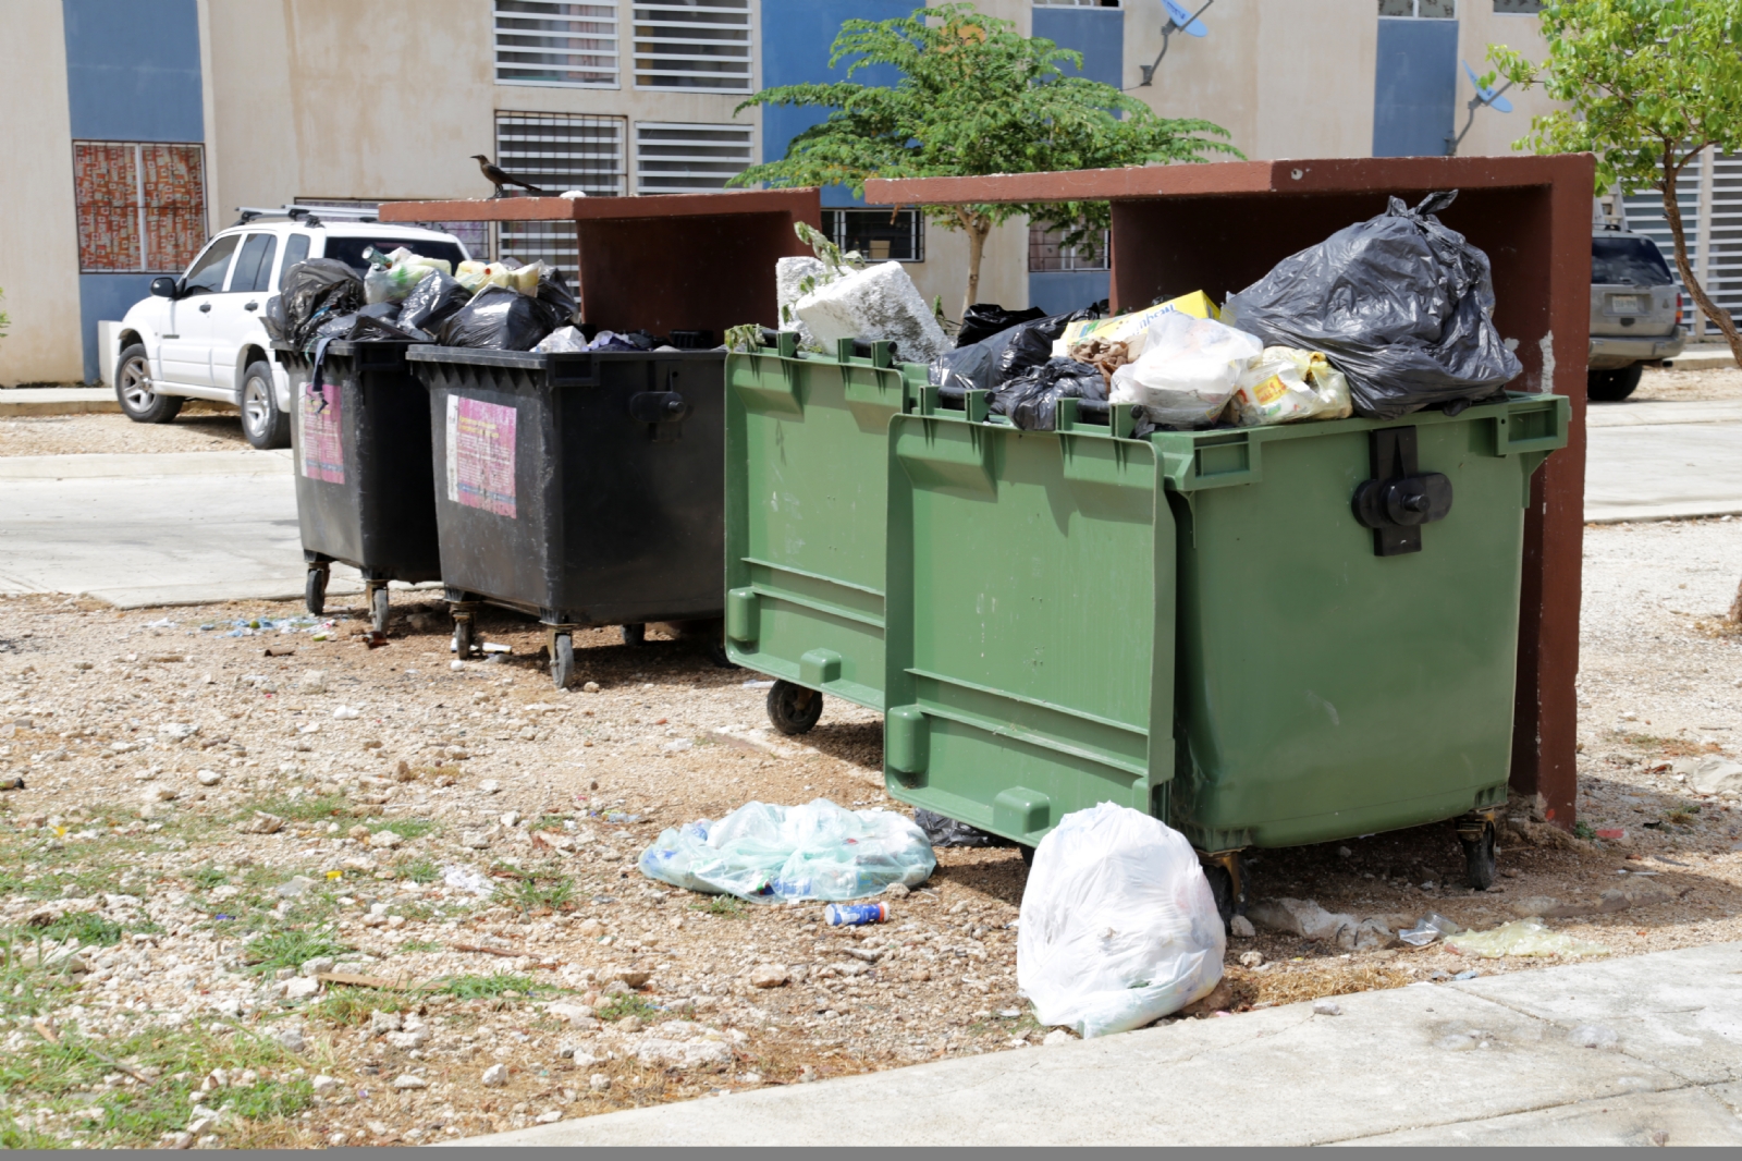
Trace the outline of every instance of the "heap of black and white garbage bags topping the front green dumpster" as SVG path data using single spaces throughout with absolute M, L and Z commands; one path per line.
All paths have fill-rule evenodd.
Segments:
M 1068 397 L 1136 404 L 1138 434 L 1462 411 L 1523 368 L 1491 321 L 1488 256 L 1434 216 L 1453 197 L 1434 194 L 1415 209 L 1394 197 L 1383 214 L 1282 260 L 1221 310 L 1202 291 L 1111 317 L 1106 303 L 1050 317 L 974 305 L 955 349 L 928 361 L 928 380 L 986 390 L 995 415 L 1030 431 L 1054 429 Z M 850 286 L 829 289 L 845 296 Z M 807 312 L 814 298 L 793 310 L 827 329 Z M 859 322 L 861 338 L 892 336 L 878 319 Z M 909 347 L 901 354 L 916 359 Z

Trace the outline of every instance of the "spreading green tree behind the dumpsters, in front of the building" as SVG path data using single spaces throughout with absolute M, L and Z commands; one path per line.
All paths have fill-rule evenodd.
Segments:
M 894 21 L 845 21 L 829 68 L 850 59 L 847 80 L 763 89 L 739 108 L 780 105 L 833 110 L 793 138 L 786 157 L 751 166 L 733 185 L 845 185 L 864 194 L 866 178 L 970 178 L 996 173 L 1111 169 L 1151 162 L 1240 157 L 1228 132 L 1207 120 L 1172 120 L 1111 85 L 1066 75 L 1082 54 L 1042 37 L 1023 37 L 1010 21 L 972 3 L 915 9 Z M 890 64 L 894 87 L 854 82 L 854 73 Z M 1066 232 L 1066 244 L 1092 244 L 1106 227 L 1106 202 L 922 206 L 946 230 L 969 237 L 963 309 L 979 296 L 986 235 L 1010 218 Z

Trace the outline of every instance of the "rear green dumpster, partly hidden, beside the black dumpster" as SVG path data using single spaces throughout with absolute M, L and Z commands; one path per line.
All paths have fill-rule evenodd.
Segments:
M 775 678 L 768 718 L 801 734 L 819 692 L 883 708 L 888 420 L 925 368 L 766 340 L 726 357 L 726 655 Z

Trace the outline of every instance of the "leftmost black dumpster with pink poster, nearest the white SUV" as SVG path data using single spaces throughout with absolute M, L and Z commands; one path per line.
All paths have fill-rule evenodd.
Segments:
M 272 345 L 291 377 L 296 521 L 308 563 L 308 612 L 326 608 L 333 561 L 362 574 L 375 628 L 387 629 L 387 582 L 441 579 L 430 397 L 406 364 L 413 343 L 333 342 L 314 357 Z

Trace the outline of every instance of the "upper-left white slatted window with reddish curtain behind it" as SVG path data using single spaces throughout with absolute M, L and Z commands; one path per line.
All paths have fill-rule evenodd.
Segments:
M 496 84 L 617 89 L 617 0 L 496 0 Z

